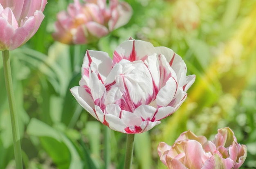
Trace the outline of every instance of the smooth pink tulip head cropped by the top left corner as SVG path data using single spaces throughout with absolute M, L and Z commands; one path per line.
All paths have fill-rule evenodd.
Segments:
M 25 44 L 38 30 L 47 0 L 0 0 L 0 50 Z

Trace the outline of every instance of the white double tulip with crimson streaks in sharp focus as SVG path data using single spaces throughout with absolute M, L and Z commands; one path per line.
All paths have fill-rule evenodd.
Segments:
M 110 59 L 87 50 L 76 100 L 95 119 L 118 132 L 142 133 L 175 112 L 184 102 L 195 75 L 173 50 L 129 39 Z

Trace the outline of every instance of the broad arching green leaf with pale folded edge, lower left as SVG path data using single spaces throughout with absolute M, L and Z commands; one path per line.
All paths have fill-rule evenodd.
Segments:
M 37 119 L 31 119 L 27 133 L 39 137 L 43 148 L 59 169 L 83 168 L 83 162 L 76 146 L 62 132 L 57 132 L 56 129 Z

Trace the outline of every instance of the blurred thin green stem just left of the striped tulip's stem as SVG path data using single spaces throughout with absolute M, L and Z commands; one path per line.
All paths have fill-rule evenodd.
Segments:
M 110 160 L 111 160 L 111 152 L 110 152 L 110 129 L 107 126 L 104 126 L 103 130 L 104 134 L 104 169 L 109 169 Z

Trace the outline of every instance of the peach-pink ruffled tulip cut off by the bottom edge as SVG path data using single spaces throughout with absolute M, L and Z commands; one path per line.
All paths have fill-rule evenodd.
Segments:
M 218 129 L 213 141 L 184 132 L 173 146 L 159 143 L 160 160 L 168 169 L 238 169 L 247 156 L 247 147 L 237 143 L 229 128 Z

